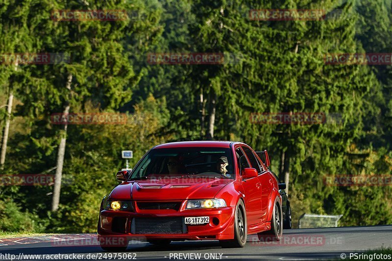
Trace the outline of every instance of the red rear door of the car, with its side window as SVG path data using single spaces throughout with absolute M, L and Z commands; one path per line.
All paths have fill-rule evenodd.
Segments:
M 268 203 L 270 201 L 270 192 L 271 192 L 271 184 L 272 179 L 270 179 L 270 175 L 268 171 L 265 169 L 264 165 L 259 162 L 258 158 L 256 157 L 255 152 L 249 148 L 244 147 L 244 152 L 247 158 L 249 159 L 251 167 L 257 169 L 259 175 L 257 179 L 260 183 L 260 201 L 261 201 L 261 222 L 267 221 L 267 211 L 268 211 Z

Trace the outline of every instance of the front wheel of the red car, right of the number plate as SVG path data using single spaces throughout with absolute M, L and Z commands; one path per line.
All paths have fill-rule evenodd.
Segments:
M 219 240 L 221 247 L 224 248 L 237 248 L 244 247 L 246 244 L 247 237 L 247 224 L 246 224 L 246 212 L 244 202 L 240 200 L 237 203 L 235 214 L 234 214 L 234 239 L 231 240 Z

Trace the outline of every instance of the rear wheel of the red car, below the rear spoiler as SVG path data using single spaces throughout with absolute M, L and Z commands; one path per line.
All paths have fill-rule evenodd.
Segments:
M 280 241 L 283 234 L 283 214 L 282 205 L 280 204 L 279 197 L 275 198 L 273 213 L 271 217 L 271 229 L 257 233 L 260 241 Z

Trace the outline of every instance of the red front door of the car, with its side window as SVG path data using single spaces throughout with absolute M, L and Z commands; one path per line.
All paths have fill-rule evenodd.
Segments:
M 241 175 L 242 170 L 250 165 L 241 147 L 236 148 L 235 152 Z M 261 221 L 261 192 L 258 177 L 242 180 L 242 187 L 245 193 L 244 201 L 248 225 L 258 224 Z

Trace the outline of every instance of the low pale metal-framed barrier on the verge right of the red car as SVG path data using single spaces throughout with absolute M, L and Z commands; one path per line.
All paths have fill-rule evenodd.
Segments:
M 299 217 L 298 228 L 337 227 L 343 215 L 303 214 Z

